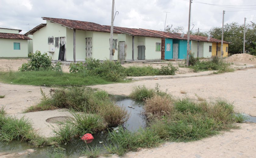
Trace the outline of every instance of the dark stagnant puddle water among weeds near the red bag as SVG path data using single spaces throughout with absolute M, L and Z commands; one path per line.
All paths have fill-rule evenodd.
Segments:
M 134 101 L 128 97 L 123 96 L 112 96 L 112 99 L 116 101 L 116 105 L 123 106 L 130 113 L 130 119 L 124 124 L 124 127 L 130 131 L 136 131 L 137 129 L 144 128 L 147 126 L 143 115 L 143 103 L 141 101 Z M 94 139 L 91 143 L 85 143 L 80 138 L 76 138 L 66 145 L 62 144 L 60 146 L 60 150 L 62 153 L 65 153 L 67 157 L 79 157 L 81 155 L 81 151 L 86 150 L 87 147 L 90 146 L 104 146 L 107 144 L 107 134 L 106 132 L 100 134 L 94 134 Z M 21 141 L 12 141 L 11 143 L 0 142 L 0 153 L 18 153 L 24 151 L 26 149 L 34 149 L 36 150 L 34 153 L 24 154 L 20 157 L 30 157 L 30 158 L 39 158 L 39 157 L 54 157 L 54 153 L 56 153 L 56 149 L 52 146 L 45 146 L 42 148 L 34 148 L 34 146 L 29 145 L 26 142 Z M 63 150 L 65 149 L 65 150 Z M 59 150 L 59 151 L 60 151 Z M 1 156 L 0 156 L 1 157 Z

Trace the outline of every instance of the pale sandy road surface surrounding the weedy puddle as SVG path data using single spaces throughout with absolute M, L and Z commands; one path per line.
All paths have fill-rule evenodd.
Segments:
M 2 63 L 2 59 L 0 63 Z M 156 83 L 160 84 L 160 89 L 163 91 L 167 89 L 176 97 L 188 96 L 197 99 L 195 95 L 198 95 L 209 101 L 226 99 L 234 102 L 236 112 L 256 116 L 256 68 L 200 77 L 144 80 L 90 87 L 104 89 L 110 94 L 129 95 L 135 86 L 145 85 L 148 88 L 154 88 Z M 42 88 L 45 92 L 50 89 Z M 185 91 L 186 94 L 182 94 L 181 91 Z M 26 115 L 31 118 L 35 129 L 44 135 L 47 131 L 49 134 L 45 121 L 47 118 L 67 115 L 65 110 L 22 114 L 26 107 L 36 105 L 40 101 L 40 87 L 37 86 L 0 83 L 0 95 L 5 95 L 5 98 L 0 99 L 0 107 L 6 106 L 6 111 L 9 114 L 19 117 Z M 189 143 L 165 143 L 158 148 L 129 152 L 124 157 L 255 157 L 256 124 L 243 123 L 239 125 L 240 129 L 223 132 L 218 136 Z M 112 157 L 118 156 L 113 155 Z

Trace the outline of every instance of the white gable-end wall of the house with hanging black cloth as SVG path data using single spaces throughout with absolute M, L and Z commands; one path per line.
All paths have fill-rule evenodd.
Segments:
M 54 44 L 48 45 L 48 37 L 52 36 L 54 37 Z M 58 60 L 59 48 L 54 46 L 55 37 L 66 37 L 66 27 L 47 21 L 47 25 L 45 27 L 37 30 L 33 34 L 33 52 L 35 53 L 37 50 L 39 50 L 41 53 L 47 53 L 50 55 L 52 60 Z M 55 51 L 52 54 L 48 53 L 51 47 L 55 48 Z

